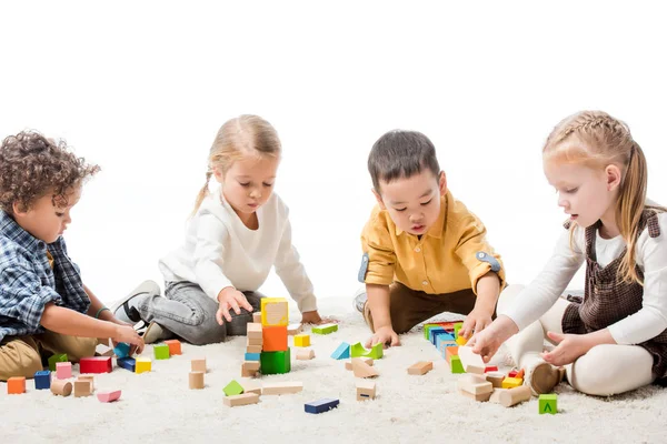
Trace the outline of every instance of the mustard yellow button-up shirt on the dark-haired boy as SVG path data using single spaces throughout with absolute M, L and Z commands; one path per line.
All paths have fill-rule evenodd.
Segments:
M 466 289 L 477 293 L 477 281 L 491 270 L 489 255 L 500 265 L 501 287 L 505 282 L 500 255 L 486 241 L 486 228 L 449 191 L 440 198 L 438 220 L 421 239 L 397 228 L 389 213 L 376 205 L 361 233 L 361 245 L 367 284 L 397 281 L 429 294 Z

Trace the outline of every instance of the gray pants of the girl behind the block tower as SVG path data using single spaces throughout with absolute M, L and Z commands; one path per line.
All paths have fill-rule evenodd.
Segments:
M 259 292 L 243 292 L 256 312 L 260 310 Z M 156 322 L 177 336 L 195 345 L 223 342 L 227 335 L 246 335 L 252 313 L 241 309 L 240 314 L 230 310 L 231 322 L 222 317 L 222 325 L 216 321 L 218 302 L 209 297 L 192 282 L 166 282 L 165 297 L 149 295 L 137 309 L 146 322 Z

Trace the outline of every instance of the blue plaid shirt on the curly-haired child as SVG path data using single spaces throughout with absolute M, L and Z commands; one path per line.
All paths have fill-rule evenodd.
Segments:
M 53 269 L 47 250 L 53 258 Z M 80 313 L 90 306 L 64 240 L 60 236 L 47 245 L 0 210 L 0 341 L 42 333 L 40 321 L 49 302 Z

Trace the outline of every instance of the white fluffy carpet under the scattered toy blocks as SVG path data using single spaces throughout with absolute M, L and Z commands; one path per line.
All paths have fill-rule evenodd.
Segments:
M 291 373 L 260 379 L 300 381 L 301 393 L 262 396 L 256 405 L 227 407 L 222 387 L 232 379 L 241 380 L 245 337 L 202 347 L 183 344 L 183 355 L 153 360 L 151 373 L 117 367 L 97 376 L 96 389 L 122 390 L 120 401 L 112 404 L 97 397 L 53 396 L 36 391 L 32 381 L 26 394 L 7 395 L 6 384 L 0 384 L 1 442 L 667 442 L 667 391 L 663 389 L 596 398 L 561 384 L 560 413 L 555 416 L 539 415 L 536 398 L 512 408 L 476 403 L 457 394 L 457 375 L 449 373 L 421 330 L 404 335 L 402 346 L 386 351 L 376 362 L 380 373 L 377 400 L 357 402 L 352 373 L 330 354 L 341 341 L 366 340 L 368 331 L 361 316 L 352 313 L 349 299 L 321 300 L 320 311 L 341 324 L 337 333 L 311 336 L 316 359 L 295 361 L 292 353 Z M 152 347 L 143 354 L 151 356 Z M 191 391 L 188 372 L 190 359 L 197 356 L 207 357 L 209 372 L 206 389 Z M 409 365 L 424 360 L 435 361 L 432 372 L 407 374 Z M 340 405 L 319 415 L 303 412 L 306 402 L 321 397 L 339 397 Z

